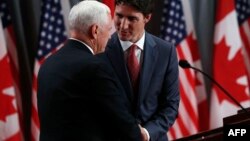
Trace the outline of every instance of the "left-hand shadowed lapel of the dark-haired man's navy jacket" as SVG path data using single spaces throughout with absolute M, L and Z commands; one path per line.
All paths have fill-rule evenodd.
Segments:
M 114 38 L 112 38 L 112 40 L 109 41 L 110 43 L 108 43 L 106 53 L 116 74 L 119 77 L 119 80 L 121 81 L 124 87 L 124 90 L 126 91 L 126 94 L 128 95 L 128 98 L 131 101 L 133 101 L 133 96 L 132 96 L 133 92 L 132 92 L 132 87 L 130 84 L 126 64 L 124 61 L 124 53 L 120 45 L 117 34 L 114 34 L 113 36 Z

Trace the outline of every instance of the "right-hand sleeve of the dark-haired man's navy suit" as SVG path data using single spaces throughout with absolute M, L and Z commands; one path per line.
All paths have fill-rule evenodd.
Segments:
M 175 47 L 171 46 L 170 50 L 162 91 L 158 97 L 158 110 L 144 125 L 150 134 L 151 141 L 156 141 L 159 137 L 166 135 L 178 114 L 180 101 L 178 60 Z

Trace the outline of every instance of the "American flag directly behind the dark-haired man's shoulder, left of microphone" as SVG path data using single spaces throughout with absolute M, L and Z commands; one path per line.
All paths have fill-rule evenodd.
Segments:
M 164 1 L 161 36 L 176 46 L 178 59 L 188 60 L 192 66 L 201 69 L 190 0 Z M 179 70 L 181 101 L 178 118 L 168 132 L 170 140 L 208 128 L 209 110 L 203 77 L 191 69 Z

